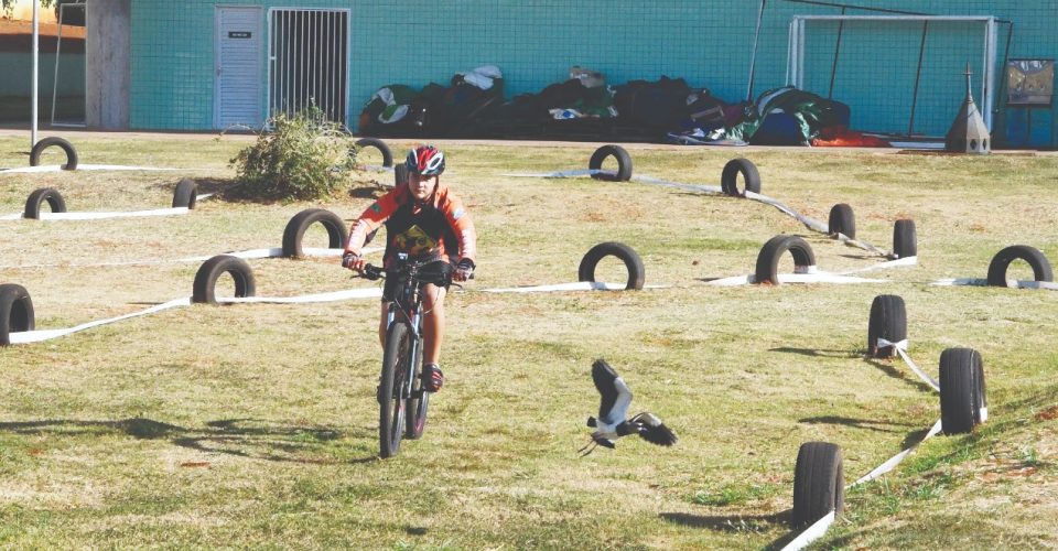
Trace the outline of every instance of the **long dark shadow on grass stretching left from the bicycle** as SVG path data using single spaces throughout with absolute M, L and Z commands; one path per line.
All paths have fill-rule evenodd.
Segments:
M 258 419 L 209 421 L 202 429 L 186 429 L 144 418 L 114 421 L 50 419 L 0 423 L 0 432 L 17 434 L 90 435 L 125 433 L 138 440 L 169 440 L 173 444 L 207 453 L 222 453 L 253 460 L 305 464 L 368 463 L 375 454 L 343 457 L 343 447 L 332 444 L 343 437 L 374 437 L 374 431 L 348 433 L 325 426 L 292 426 Z

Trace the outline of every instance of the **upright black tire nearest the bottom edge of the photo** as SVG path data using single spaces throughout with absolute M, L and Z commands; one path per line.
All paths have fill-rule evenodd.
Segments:
M 811 526 L 845 505 L 845 473 L 841 447 L 829 442 L 805 442 L 794 471 L 795 529 Z

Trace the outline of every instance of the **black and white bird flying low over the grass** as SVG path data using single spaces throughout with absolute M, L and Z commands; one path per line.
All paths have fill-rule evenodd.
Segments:
M 582 456 L 595 451 L 596 446 L 614 449 L 614 441 L 628 434 L 638 434 L 643 440 L 662 446 L 676 443 L 676 434 L 649 411 L 625 419 L 631 404 L 631 390 L 605 359 L 600 358 L 592 364 L 592 380 L 602 401 L 598 404 L 598 418 L 587 418 L 587 425 L 595 432 L 592 433 L 592 441 L 579 450 Z

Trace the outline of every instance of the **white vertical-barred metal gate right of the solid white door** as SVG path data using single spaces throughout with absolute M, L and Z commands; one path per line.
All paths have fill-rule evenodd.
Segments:
M 269 11 L 270 116 L 316 107 L 345 123 L 348 79 L 349 11 Z

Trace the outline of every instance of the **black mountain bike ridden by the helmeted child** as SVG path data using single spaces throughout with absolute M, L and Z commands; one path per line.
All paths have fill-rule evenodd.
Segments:
M 432 264 L 432 266 L 431 266 Z M 425 270 L 423 268 L 427 268 Z M 431 269 L 431 268 L 439 269 Z M 397 255 L 393 268 L 364 267 L 369 280 L 398 278 L 393 302 L 386 322 L 386 347 L 378 383 L 378 437 L 382 458 L 397 455 L 400 441 L 418 440 L 427 426 L 430 392 L 422 388 L 422 285 L 451 284 L 447 264 L 435 259 L 419 261 L 407 253 Z M 410 414 L 409 414 L 410 412 Z

